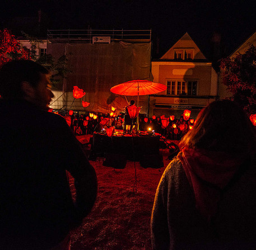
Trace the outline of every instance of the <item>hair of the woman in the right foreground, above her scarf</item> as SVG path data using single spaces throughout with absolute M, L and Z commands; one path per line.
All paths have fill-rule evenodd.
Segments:
M 180 147 L 228 153 L 255 152 L 256 129 L 235 102 L 214 101 L 197 116 L 194 128 L 180 141 Z

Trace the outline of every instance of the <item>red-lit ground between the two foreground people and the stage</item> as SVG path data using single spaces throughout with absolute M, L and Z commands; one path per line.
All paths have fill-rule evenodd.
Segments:
M 136 162 L 137 192 L 134 192 L 134 162 L 124 169 L 103 166 L 103 158 L 90 161 L 97 173 L 99 190 L 94 209 L 72 233 L 71 250 L 151 249 L 150 216 L 162 173 L 170 162 L 169 150 L 161 149 L 162 168 L 142 168 Z M 70 179 L 71 188 L 73 180 Z

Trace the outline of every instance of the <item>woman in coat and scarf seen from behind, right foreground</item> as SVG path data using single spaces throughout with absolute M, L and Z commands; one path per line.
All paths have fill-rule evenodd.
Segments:
M 157 187 L 153 249 L 256 249 L 256 130 L 215 101 L 180 141 Z

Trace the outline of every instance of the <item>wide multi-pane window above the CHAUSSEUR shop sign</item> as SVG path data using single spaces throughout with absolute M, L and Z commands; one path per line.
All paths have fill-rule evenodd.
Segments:
M 166 95 L 197 96 L 197 81 L 167 81 Z

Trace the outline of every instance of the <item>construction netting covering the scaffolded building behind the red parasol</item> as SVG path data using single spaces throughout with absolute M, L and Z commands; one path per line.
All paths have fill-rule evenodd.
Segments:
M 108 113 L 113 106 L 122 112 L 127 101 L 136 101 L 137 96 L 125 98 L 111 93 L 110 88 L 135 79 L 153 80 L 151 43 L 52 43 L 48 44 L 48 53 L 55 59 L 66 55 L 71 70 L 63 81 L 63 89 L 54 91 L 53 109 Z M 83 89 L 86 95 L 74 99 L 73 86 Z M 90 105 L 83 108 L 82 101 Z M 139 96 L 139 106 L 141 113 L 147 113 L 148 96 Z

